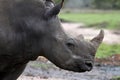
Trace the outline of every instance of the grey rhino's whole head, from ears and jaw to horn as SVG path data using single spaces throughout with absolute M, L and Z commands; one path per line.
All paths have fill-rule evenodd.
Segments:
M 45 13 L 49 27 L 49 35 L 45 37 L 43 44 L 43 56 L 56 66 L 74 72 L 90 71 L 93 68 L 94 57 L 103 40 L 104 32 L 101 30 L 98 36 L 90 41 L 83 37 L 70 38 L 61 27 L 57 15 L 62 8 L 64 0 L 54 6 L 51 0 L 46 0 Z M 51 30 L 51 31 L 50 31 Z

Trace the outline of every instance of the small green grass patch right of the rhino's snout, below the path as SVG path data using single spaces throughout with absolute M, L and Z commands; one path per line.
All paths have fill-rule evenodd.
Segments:
M 106 58 L 113 54 L 120 54 L 120 44 L 101 44 L 97 51 L 96 58 Z

